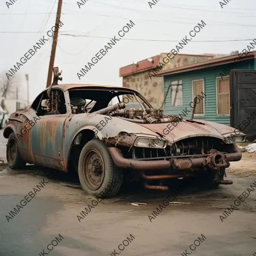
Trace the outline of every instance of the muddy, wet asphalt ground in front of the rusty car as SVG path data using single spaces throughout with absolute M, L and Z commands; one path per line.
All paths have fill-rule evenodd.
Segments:
M 2 158 L 5 144 L 0 134 Z M 208 191 L 189 187 L 173 201 L 185 204 L 152 214 L 168 192 L 130 189 L 92 208 L 88 204 L 95 205 L 95 198 L 84 195 L 76 175 L 58 173 L 49 180 L 49 171 L 0 166 L 0 256 L 252 256 L 256 251 L 256 189 L 223 222 L 220 218 L 256 176 L 228 177 L 233 185 Z M 37 185 L 41 191 L 31 198 Z M 8 221 L 21 200 L 26 205 Z M 89 213 L 79 222 L 85 207 Z

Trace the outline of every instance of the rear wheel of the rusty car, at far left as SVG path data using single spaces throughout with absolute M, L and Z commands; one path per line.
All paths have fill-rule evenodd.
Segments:
M 24 162 L 20 156 L 14 132 L 12 132 L 8 138 L 6 159 L 7 164 L 11 169 L 23 169 L 26 166 L 26 162 Z

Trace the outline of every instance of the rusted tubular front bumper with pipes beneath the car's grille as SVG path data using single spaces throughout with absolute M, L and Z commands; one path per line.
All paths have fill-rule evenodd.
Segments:
M 202 157 L 187 157 L 184 159 L 177 157 L 169 157 L 167 160 L 135 160 L 127 159 L 123 157 L 121 150 L 119 148 L 110 147 L 108 148 L 116 166 L 120 168 L 130 168 L 139 170 L 140 176 L 145 180 L 144 186 L 146 189 L 160 189 L 168 190 L 168 186 L 163 185 L 149 185 L 146 181 L 148 180 L 164 180 L 164 179 L 174 179 L 174 178 L 184 178 L 195 176 L 195 169 L 202 167 L 210 167 L 219 172 L 221 167 L 230 166 L 229 162 L 241 160 L 241 152 L 234 152 L 228 154 L 221 154 L 215 149 L 209 151 Z M 176 174 L 157 174 L 157 175 L 145 175 L 143 171 L 147 170 L 165 170 L 173 169 L 178 171 L 183 171 Z M 192 170 L 192 175 L 186 172 L 186 170 Z M 219 180 L 220 184 L 233 184 L 232 180 Z

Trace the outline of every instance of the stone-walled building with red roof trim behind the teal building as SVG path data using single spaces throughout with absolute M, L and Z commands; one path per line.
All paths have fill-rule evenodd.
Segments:
M 119 76 L 122 77 L 122 86 L 139 91 L 154 107 L 160 107 L 163 103 L 163 78 L 150 78 L 149 73 L 154 73 L 154 70 L 156 70 L 156 72 L 169 70 L 171 68 L 182 67 L 184 65 L 216 58 L 213 54 L 177 54 L 172 56 L 171 61 L 168 61 L 167 64 L 159 69 L 157 65 L 159 62 L 163 62 L 167 54 L 168 53 L 161 53 L 160 55 L 121 67 L 119 69 Z

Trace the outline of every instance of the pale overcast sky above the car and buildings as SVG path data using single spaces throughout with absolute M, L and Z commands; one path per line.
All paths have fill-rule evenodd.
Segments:
M 57 5 L 58 0 L 17 0 L 8 9 L 5 1 L 0 2 L 1 72 L 13 68 L 43 35 L 47 37 L 55 24 Z M 59 30 L 54 64 L 63 70 L 61 83 L 122 86 L 120 67 L 169 52 L 175 41 L 189 35 L 201 20 L 207 26 L 180 53 L 240 52 L 248 42 L 229 40 L 256 38 L 255 0 L 231 0 L 223 9 L 216 0 L 159 0 L 151 7 L 145 0 L 88 0 L 79 9 L 76 1 L 63 0 L 64 25 Z M 135 26 L 79 80 L 77 72 L 130 20 Z M 224 42 L 209 42 L 214 40 Z M 30 102 L 46 87 L 51 45 L 52 38 L 17 71 L 22 81 L 21 98 L 26 99 L 26 73 Z

